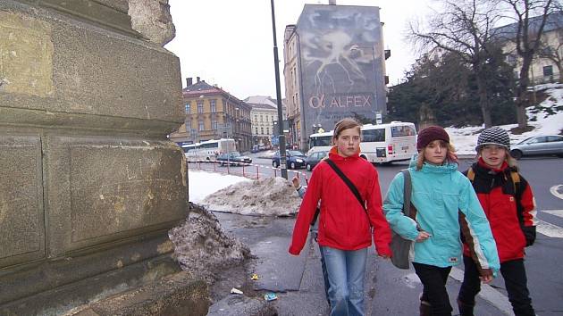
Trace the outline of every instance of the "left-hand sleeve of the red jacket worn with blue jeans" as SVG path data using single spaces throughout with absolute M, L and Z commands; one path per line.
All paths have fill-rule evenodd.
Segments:
M 290 254 L 298 255 L 307 242 L 307 234 L 315 216 L 316 205 L 321 196 L 323 185 L 323 168 L 319 167 L 321 167 L 320 164 L 313 170 L 307 191 L 299 207 L 297 220 L 295 220 L 293 227 L 293 235 L 291 236 Z

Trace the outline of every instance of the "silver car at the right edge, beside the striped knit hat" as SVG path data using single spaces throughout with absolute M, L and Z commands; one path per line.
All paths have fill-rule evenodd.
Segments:
M 556 154 L 563 158 L 563 136 L 534 136 L 510 146 L 510 155 L 516 159 L 539 154 Z

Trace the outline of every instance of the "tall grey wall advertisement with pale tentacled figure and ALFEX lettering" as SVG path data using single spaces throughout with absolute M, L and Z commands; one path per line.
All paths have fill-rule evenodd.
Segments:
M 385 112 L 379 8 L 306 4 L 296 31 L 301 135 L 345 117 L 375 122 Z

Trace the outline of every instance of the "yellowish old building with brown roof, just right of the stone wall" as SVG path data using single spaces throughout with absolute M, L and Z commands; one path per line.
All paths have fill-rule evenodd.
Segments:
M 187 79 L 182 89 L 185 123 L 170 134 L 177 143 L 199 143 L 211 139 L 233 138 L 237 150 L 247 152 L 252 146 L 250 106 L 220 87 L 197 77 Z

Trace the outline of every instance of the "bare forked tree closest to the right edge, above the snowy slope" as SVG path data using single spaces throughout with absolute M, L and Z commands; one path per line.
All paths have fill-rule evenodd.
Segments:
M 520 74 L 516 88 L 518 128 L 527 127 L 525 107 L 529 105 L 527 88 L 530 85 L 529 72 L 534 56 L 542 43 L 543 30 L 548 17 L 555 12 L 558 0 L 501 0 L 506 4 L 508 15 L 516 20 L 516 31 L 510 34 L 521 58 Z

